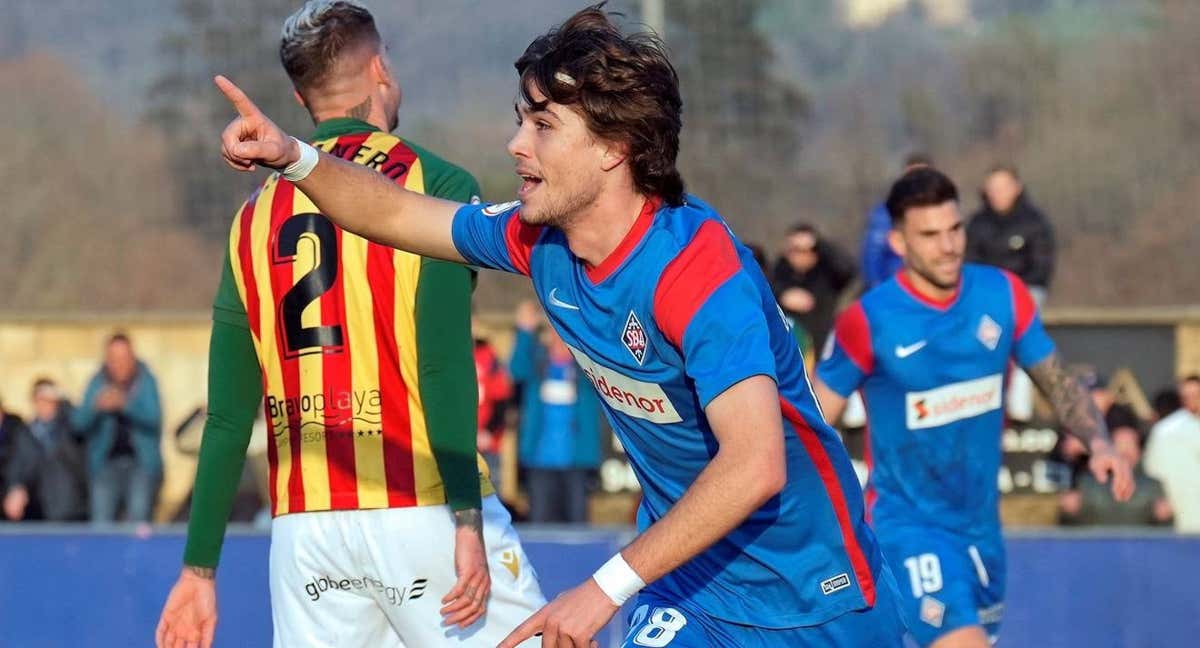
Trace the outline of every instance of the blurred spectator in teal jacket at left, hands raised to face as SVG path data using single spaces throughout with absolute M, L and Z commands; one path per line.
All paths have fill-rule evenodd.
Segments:
M 72 424 L 88 442 L 92 522 L 149 522 L 162 478 L 162 410 L 154 374 L 124 334 L 108 340 Z

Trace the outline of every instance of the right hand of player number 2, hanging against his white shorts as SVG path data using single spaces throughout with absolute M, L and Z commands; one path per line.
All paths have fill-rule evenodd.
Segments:
M 487 612 L 487 596 L 492 592 L 479 509 L 455 511 L 454 568 L 458 582 L 442 598 L 443 623 L 468 628 Z

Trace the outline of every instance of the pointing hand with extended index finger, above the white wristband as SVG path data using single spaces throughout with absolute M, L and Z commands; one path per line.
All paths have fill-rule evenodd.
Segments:
M 257 164 L 282 169 L 300 158 L 300 146 L 266 118 L 254 102 L 233 84 L 217 76 L 212 79 L 238 116 L 221 133 L 221 156 L 238 170 L 254 170 Z

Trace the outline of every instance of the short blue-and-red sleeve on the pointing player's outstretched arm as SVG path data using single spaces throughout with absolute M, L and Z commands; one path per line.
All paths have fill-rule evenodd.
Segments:
M 542 228 L 522 223 L 520 208 L 520 203 L 462 205 L 451 227 L 455 248 L 472 265 L 528 276 Z

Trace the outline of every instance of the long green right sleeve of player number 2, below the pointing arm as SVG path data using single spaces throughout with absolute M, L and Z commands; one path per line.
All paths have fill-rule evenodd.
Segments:
M 470 271 L 421 259 L 416 283 L 416 349 L 430 445 L 452 510 L 478 509 L 479 385 L 470 337 Z

